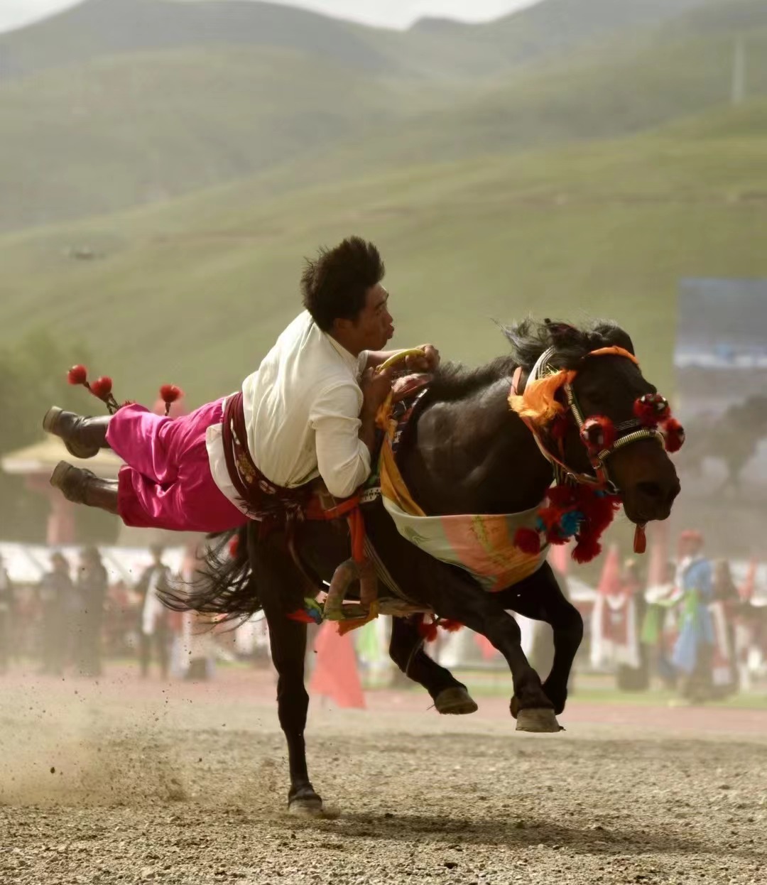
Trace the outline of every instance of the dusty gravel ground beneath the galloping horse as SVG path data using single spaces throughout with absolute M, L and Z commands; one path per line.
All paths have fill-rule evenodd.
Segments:
M 312 776 L 341 816 L 296 820 L 271 677 L 0 692 L 3 885 L 767 881 L 767 711 L 574 702 L 536 737 L 496 698 L 460 719 L 414 694 L 316 705 Z

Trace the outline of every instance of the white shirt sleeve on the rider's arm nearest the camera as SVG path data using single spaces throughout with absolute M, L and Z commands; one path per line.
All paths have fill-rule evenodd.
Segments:
M 359 438 L 361 409 L 362 390 L 355 384 L 334 385 L 311 404 L 319 475 L 335 497 L 354 494 L 370 475 L 370 451 Z

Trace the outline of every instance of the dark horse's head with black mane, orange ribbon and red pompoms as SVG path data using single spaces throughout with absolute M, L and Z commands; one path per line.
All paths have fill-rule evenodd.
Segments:
M 679 495 L 668 450 L 683 434 L 642 376 L 630 337 L 610 323 L 579 329 L 548 320 L 507 335 L 528 375 L 512 407 L 549 459 L 579 482 L 617 491 L 633 522 L 666 519 Z

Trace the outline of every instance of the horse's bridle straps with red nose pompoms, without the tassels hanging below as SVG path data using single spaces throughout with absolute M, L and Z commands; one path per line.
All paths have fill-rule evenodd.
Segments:
M 541 426 L 541 421 L 533 415 L 525 413 L 525 393 L 520 394 L 519 386 L 522 378 L 522 367 L 519 366 L 514 372 L 511 384 L 510 405 L 518 412 L 519 417 L 525 422 L 526 427 L 533 434 L 538 444 L 541 455 L 554 468 L 557 483 L 571 483 L 588 485 L 594 490 L 605 492 L 608 495 L 620 495 L 620 489 L 615 481 L 610 478 L 607 462 L 611 455 L 618 449 L 627 445 L 639 443 L 640 440 L 652 439 L 663 446 L 671 449 L 668 442 L 668 432 L 672 431 L 680 437 L 676 448 L 681 445 L 683 431 L 678 422 L 671 418 L 668 402 L 658 394 L 646 394 L 634 403 L 634 418 L 622 421 L 614 425 L 612 421 L 602 415 L 587 416 L 584 414 L 578 402 L 578 397 L 573 389 L 573 381 L 578 372 L 556 369 L 550 365 L 551 359 L 556 355 L 556 348 L 550 347 L 544 350 L 531 370 L 526 384 L 525 392 L 531 389 L 536 382 L 557 376 L 559 384 L 552 384 L 552 389 L 562 389 L 566 403 L 566 412 L 561 404 L 556 404 L 556 416 L 548 425 Z M 635 365 L 639 362 L 633 353 L 622 347 L 604 347 L 587 353 L 584 360 L 593 357 L 618 356 L 630 359 Z M 594 473 L 582 473 L 568 466 L 564 460 L 564 422 L 567 413 L 572 415 L 576 427 L 578 427 L 579 439 L 587 450 L 589 463 Z M 548 439 L 556 443 L 556 451 L 547 444 Z M 676 450 L 676 448 L 674 450 Z

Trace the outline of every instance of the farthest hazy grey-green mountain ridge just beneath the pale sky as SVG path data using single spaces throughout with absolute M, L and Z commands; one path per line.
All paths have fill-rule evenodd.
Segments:
M 8 79 L 122 53 L 249 46 L 305 52 L 367 73 L 488 76 L 659 24 L 707 2 L 543 0 L 489 24 L 422 19 L 399 32 L 243 0 L 87 0 L 0 38 L 0 75 Z

